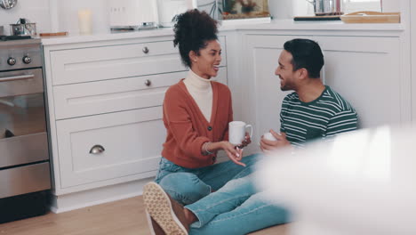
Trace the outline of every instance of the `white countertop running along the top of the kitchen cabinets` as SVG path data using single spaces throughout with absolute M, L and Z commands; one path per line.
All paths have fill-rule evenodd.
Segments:
M 402 24 L 345 24 L 342 21 L 272 20 L 270 23 L 227 24 L 220 32 L 230 30 L 319 30 L 319 31 L 403 31 Z M 102 32 L 93 35 L 68 35 L 42 38 L 43 45 L 64 45 L 151 36 L 171 36 L 172 28 L 139 31 Z

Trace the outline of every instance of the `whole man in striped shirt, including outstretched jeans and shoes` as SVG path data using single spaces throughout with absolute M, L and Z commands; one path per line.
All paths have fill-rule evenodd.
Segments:
M 270 130 L 276 141 L 261 139 L 264 153 L 284 147 L 301 148 L 309 140 L 356 130 L 355 109 L 319 79 L 324 55 L 316 42 L 286 42 L 278 62 L 276 76 L 281 90 L 294 93 L 282 103 L 280 134 Z M 159 234 L 245 234 L 289 222 L 284 207 L 262 199 L 251 175 L 232 180 L 186 207 L 170 199 L 154 182 L 145 186 L 143 198 Z

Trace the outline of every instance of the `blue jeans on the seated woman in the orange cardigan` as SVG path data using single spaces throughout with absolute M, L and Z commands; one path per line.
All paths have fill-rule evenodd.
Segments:
M 171 197 L 182 205 L 188 205 L 219 190 L 226 182 L 251 174 L 254 164 L 261 155 L 244 157 L 239 166 L 232 161 L 196 169 L 185 168 L 161 158 L 157 182 Z

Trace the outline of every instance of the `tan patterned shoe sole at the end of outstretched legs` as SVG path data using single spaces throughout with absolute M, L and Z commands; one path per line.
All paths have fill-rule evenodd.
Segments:
M 167 235 L 188 235 L 188 231 L 173 212 L 171 199 L 156 182 L 149 182 L 144 186 L 143 199 L 148 214 Z

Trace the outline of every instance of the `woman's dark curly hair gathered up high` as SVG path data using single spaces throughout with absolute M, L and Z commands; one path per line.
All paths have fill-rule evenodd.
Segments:
M 182 63 L 189 68 L 191 65 L 189 52 L 194 51 L 199 55 L 199 50 L 206 47 L 207 41 L 218 39 L 217 20 L 197 9 L 180 14 L 173 31 L 175 32 L 173 45 L 179 45 Z

